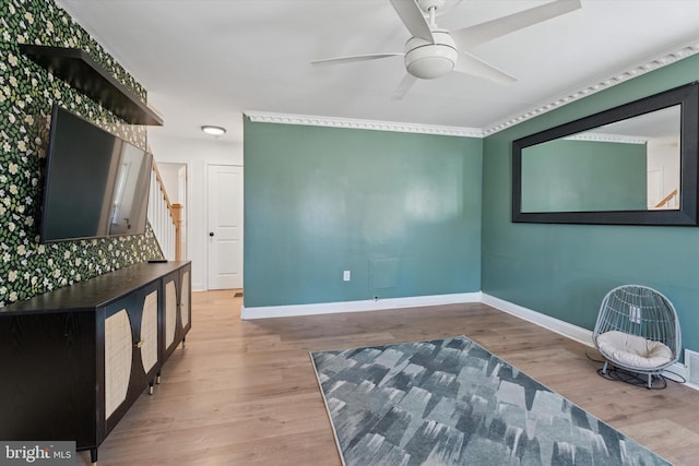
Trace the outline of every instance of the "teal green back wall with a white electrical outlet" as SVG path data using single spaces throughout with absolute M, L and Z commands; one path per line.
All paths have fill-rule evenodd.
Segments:
M 246 307 L 481 289 L 483 140 L 246 119 L 244 141 Z

